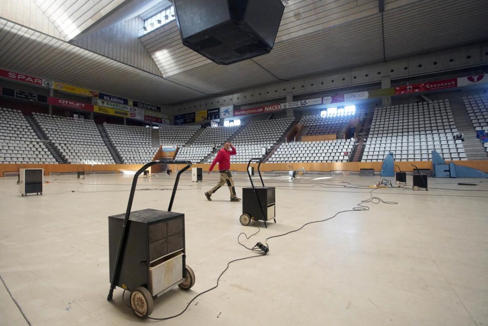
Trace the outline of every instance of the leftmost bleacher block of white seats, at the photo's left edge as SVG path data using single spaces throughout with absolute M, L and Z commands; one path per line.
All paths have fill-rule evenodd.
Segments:
M 18 110 L 0 108 L 0 163 L 57 164 Z

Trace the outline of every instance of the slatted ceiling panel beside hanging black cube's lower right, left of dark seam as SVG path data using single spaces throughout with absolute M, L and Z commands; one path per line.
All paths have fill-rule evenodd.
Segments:
M 278 43 L 254 60 L 282 79 L 382 62 L 381 15 Z

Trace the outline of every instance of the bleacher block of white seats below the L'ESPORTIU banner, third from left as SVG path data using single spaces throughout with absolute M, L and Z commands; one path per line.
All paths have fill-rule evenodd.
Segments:
M 103 126 L 125 164 L 146 164 L 158 152 L 159 147 L 152 146 L 151 128 L 107 123 Z

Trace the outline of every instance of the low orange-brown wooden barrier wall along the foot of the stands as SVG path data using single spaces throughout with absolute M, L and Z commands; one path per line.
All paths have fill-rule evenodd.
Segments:
M 449 161 L 446 161 L 448 163 Z M 488 160 L 478 161 L 454 161 L 457 165 L 463 165 L 470 168 L 474 168 L 483 172 L 488 172 Z M 351 171 L 359 172 L 360 169 L 374 169 L 376 172 L 381 171 L 382 162 L 337 162 L 337 163 L 263 163 L 261 164 L 262 172 L 271 171 L 289 171 L 289 165 L 294 170 L 305 168 L 305 171 L 317 171 L 317 172 L 331 172 L 331 171 Z M 432 167 L 431 162 L 395 162 L 400 166 L 400 169 L 405 172 L 412 172 L 414 168 L 411 164 L 416 165 L 419 169 L 430 169 Z M 203 171 L 207 171 L 209 164 L 194 164 L 193 167 L 203 168 Z M 231 170 L 237 172 L 245 172 L 247 164 L 231 164 Z M 252 166 L 257 167 L 257 163 Z M 3 176 L 5 172 L 17 172 L 19 167 L 25 168 L 39 168 L 44 169 L 44 174 L 49 175 L 51 172 L 67 173 L 77 172 L 78 167 L 83 167 L 85 172 L 103 172 L 103 171 L 115 171 L 119 173 L 121 170 L 137 171 L 142 167 L 142 164 L 103 164 L 103 165 L 79 165 L 79 164 L 0 164 L 0 176 Z M 176 169 L 181 170 L 183 165 L 176 165 L 173 171 Z M 218 167 L 214 168 L 217 171 Z M 396 168 L 395 168 L 396 171 Z

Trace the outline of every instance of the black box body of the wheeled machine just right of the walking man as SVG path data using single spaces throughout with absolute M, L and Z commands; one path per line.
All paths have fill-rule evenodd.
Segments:
M 256 187 L 256 193 L 263 207 L 265 220 L 275 218 L 275 187 Z M 243 214 L 263 220 L 258 201 L 252 187 L 243 188 Z

